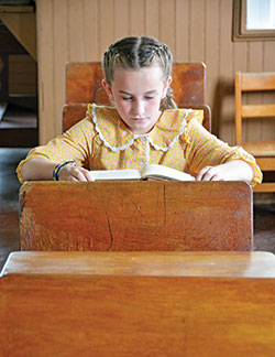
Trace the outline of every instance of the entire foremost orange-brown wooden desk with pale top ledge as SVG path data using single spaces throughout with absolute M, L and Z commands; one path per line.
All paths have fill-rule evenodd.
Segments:
M 275 356 L 267 252 L 15 252 L 3 356 Z

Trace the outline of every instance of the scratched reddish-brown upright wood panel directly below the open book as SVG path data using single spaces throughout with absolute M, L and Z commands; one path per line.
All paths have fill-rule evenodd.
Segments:
M 252 249 L 252 191 L 242 182 L 26 182 L 22 250 Z

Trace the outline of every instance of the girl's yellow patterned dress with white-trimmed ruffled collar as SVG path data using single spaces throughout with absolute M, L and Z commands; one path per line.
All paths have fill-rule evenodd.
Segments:
M 141 169 L 163 164 L 197 176 L 205 166 L 241 159 L 254 170 L 252 186 L 262 181 L 255 159 L 240 147 L 229 147 L 202 126 L 204 111 L 167 109 L 146 134 L 132 133 L 116 108 L 88 105 L 87 116 L 46 145 L 34 148 L 21 161 L 32 158 L 56 163 L 75 160 L 88 170 Z

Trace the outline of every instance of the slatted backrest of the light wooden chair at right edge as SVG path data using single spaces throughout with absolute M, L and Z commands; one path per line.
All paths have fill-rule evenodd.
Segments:
M 243 104 L 242 94 L 245 91 L 275 90 L 274 73 L 241 73 L 235 74 L 235 141 L 242 144 L 242 118 L 275 118 L 275 104 L 249 105 Z

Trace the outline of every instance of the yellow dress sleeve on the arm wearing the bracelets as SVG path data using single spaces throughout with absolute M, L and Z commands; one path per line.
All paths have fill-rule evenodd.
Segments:
M 62 136 L 51 140 L 46 145 L 32 149 L 28 156 L 19 163 L 16 174 L 22 183 L 21 167 L 33 159 L 43 158 L 54 162 L 75 160 L 79 166 L 85 166 L 92 152 L 95 128 L 89 118 L 85 118 Z

